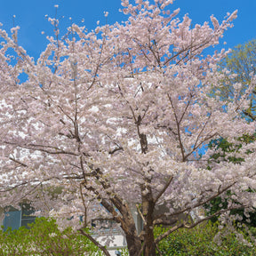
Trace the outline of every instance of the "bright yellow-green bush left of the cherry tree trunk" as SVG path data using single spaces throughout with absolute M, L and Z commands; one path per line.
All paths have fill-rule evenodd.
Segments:
M 37 218 L 28 228 L 0 230 L 1 256 L 80 256 L 101 255 L 99 249 L 72 228 L 60 231 L 56 221 Z

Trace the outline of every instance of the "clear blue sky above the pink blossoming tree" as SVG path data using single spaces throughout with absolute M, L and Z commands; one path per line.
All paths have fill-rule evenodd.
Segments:
M 38 57 L 44 51 L 47 44 L 45 34 L 51 34 L 52 27 L 44 18 L 47 14 L 54 17 L 54 5 L 59 4 L 58 17 L 65 16 L 60 20 L 60 28 L 70 25 L 69 17 L 77 24 L 84 19 L 84 25 L 88 29 L 95 28 L 97 20 L 105 22 L 104 11 L 109 12 L 108 23 L 125 20 L 126 17 L 118 12 L 121 0 L 2 0 L 0 8 L 0 22 L 3 23 L 7 32 L 14 25 L 20 26 L 19 44 L 22 45 L 30 55 Z M 227 12 L 238 9 L 238 18 L 235 27 L 230 28 L 223 41 L 226 47 L 234 47 L 236 44 L 244 44 L 256 38 L 256 0 L 176 0 L 171 8 L 180 7 L 180 18 L 188 13 L 193 24 L 209 21 L 214 14 L 218 20 L 222 20 Z

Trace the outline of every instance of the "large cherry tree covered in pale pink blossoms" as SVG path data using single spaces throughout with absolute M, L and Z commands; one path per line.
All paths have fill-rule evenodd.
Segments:
M 255 78 L 239 102 L 210 95 L 228 74 L 217 66 L 227 52 L 209 52 L 236 12 L 192 26 L 170 4 L 123 0 L 124 23 L 91 32 L 73 24 L 62 38 L 59 21 L 49 19 L 55 36 L 38 60 L 18 44 L 19 28 L 12 36 L 0 30 L 1 206 L 26 198 L 41 215 L 76 225 L 106 255 L 84 228 L 111 220 L 132 256 L 156 255 L 159 241 L 178 228 L 255 206 L 255 194 L 247 192 L 256 188 L 255 143 L 241 148 L 241 164 L 209 170 L 213 149 L 198 157 L 210 140 L 236 143 L 255 131 L 255 122 L 238 115 L 248 108 Z M 28 79 L 20 81 L 23 73 Z M 197 209 L 217 196 L 224 200 L 227 191 L 227 209 L 197 218 Z M 192 212 L 192 222 L 178 218 Z M 172 228 L 154 237 L 161 224 Z

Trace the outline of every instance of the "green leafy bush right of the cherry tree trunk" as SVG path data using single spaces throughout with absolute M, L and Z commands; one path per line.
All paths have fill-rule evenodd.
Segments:
M 160 235 L 166 228 L 156 228 L 155 234 Z M 242 230 L 235 233 L 226 232 L 227 229 L 218 228 L 218 224 L 203 223 L 192 229 L 179 229 L 166 237 L 158 244 L 157 255 L 168 256 L 250 256 L 256 255 L 255 245 L 245 245 L 238 241 L 236 235 L 244 236 L 250 242 Z M 216 235 L 222 235 L 221 244 L 214 243 Z

